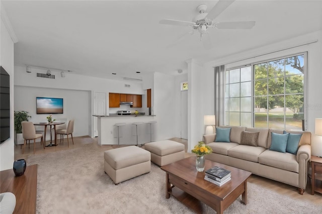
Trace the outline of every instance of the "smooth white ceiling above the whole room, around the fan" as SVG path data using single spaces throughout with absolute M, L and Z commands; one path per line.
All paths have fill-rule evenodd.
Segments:
M 177 75 L 190 58 L 204 63 L 322 29 L 321 1 L 235 1 L 215 21 L 256 21 L 253 29 L 209 29 L 210 50 L 198 34 L 167 47 L 191 29 L 159 20 L 191 21 L 198 5 L 209 11 L 217 1 L 1 2 L 19 40 L 16 65 L 102 78 Z

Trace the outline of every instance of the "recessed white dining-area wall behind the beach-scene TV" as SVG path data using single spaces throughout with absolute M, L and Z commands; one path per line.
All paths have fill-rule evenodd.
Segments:
M 91 91 L 56 88 L 15 86 L 15 111 L 27 111 L 34 123 L 47 122 L 48 115 L 36 113 L 36 97 L 63 98 L 63 114 L 53 114 L 53 119 L 64 121 L 74 119 L 73 137 L 91 136 Z M 66 123 L 66 124 L 67 124 Z M 43 126 L 36 127 L 43 130 Z M 49 127 L 48 127 L 49 129 Z M 49 132 L 47 132 L 49 133 Z M 50 136 L 46 135 L 46 140 Z

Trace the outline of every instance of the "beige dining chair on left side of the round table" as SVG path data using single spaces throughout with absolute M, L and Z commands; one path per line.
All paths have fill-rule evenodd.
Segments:
M 23 121 L 23 122 L 21 122 L 21 126 L 22 126 L 22 137 L 24 138 L 24 148 L 22 150 L 22 154 L 24 154 L 24 152 L 25 152 L 25 146 L 27 144 L 27 141 L 29 142 L 29 148 L 30 148 L 30 140 L 34 140 L 34 154 L 35 154 L 36 139 L 37 138 L 41 138 L 40 144 L 42 144 L 45 149 L 45 143 L 43 141 L 43 136 L 42 136 L 42 134 L 36 133 L 35 126 L 34 126 L 33 122 Z

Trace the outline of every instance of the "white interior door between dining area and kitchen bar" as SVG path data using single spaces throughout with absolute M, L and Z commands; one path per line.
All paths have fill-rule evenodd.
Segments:
M 106 93 L 95 92 L 94 94 L 94 115 L 106 115 Z M 98 137 L 97 117 L 94 117 L 94 137 Z

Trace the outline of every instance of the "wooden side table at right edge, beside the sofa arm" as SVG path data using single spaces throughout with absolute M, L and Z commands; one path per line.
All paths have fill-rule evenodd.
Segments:
M 322 193 L 321 186 L 315 186 L 315 179 L 322 180 L 322 158 L 317 156 L 311 156 L 311 184 L 312 184 L 312 192 L 314 195 L 315 192 Z

